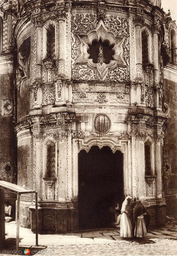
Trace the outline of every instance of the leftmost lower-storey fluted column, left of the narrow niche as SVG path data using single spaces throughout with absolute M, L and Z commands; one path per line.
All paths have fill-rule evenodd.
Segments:
M 36 141 L 36 191 L 38 191 L 38 200 L 41 200 L 41 180 L 42 180 L 42 173 L 41 173 L 41 150 L 42 145 L 41 141 Z

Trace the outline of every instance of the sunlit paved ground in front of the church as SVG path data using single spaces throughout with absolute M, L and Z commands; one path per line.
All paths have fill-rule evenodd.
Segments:
M 152 228 L 146 238 L 120 238 L 119 229 L 88 230 L 82 233 L 39 235 L 36 248 L 35 234 L 20 228 L 20 250 L 29 248 L 35 255 L 177 255 L 177 219 L 168 219 L 165 226 Z M 15 252 L 16 224 L 6 223 L 4 255 Z M 8 252 L 7 252 L 8 251 Z M 20 254 L 20 253 L 19 253 Z M 21 252 L 23 255 L 23 252 Z M 1 254 L 2 255 L 2 254 Z M 31 254 L 30 254 L 31 255 Z

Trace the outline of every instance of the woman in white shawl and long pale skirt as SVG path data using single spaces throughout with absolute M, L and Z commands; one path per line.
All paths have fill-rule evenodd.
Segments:
M 133 237 L 132 229 L 132 212 L 130 208 L 131 196 L 127 196 L 122 204 L 121 221 L 120 221 L 120 236 Z

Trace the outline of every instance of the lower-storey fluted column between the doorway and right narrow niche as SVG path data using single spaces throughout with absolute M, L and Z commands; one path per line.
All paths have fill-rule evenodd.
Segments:
M 145 149 L 144 141 L 138 140 L 138 197 L 145 196 Z

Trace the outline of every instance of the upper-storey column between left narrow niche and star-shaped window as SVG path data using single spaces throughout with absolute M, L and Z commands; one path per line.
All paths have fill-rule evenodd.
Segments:
M 58 74 L 59 76 L 65 77 L 65 20 L 60 19 L 58 21 L 58 35 L 57 35 L 57 44 L 58 44 Z

